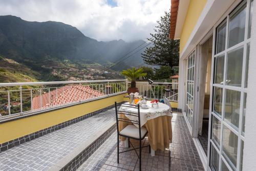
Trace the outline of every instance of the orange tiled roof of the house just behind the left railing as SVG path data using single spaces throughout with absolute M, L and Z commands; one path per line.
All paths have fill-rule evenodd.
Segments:
M 56 96 L 57 95 L 57 96 Z M 33 98 L 33 110 L 47 108 L 56 104 L 66 104 L 79 100 L 86 100 L 94 97 L 105 95 L 100 91 L 90 88 L 90 86 L 67 85 L 51 91 L 50 93 L 42 94 L 42 104 L 40 104 L 40 96 Z

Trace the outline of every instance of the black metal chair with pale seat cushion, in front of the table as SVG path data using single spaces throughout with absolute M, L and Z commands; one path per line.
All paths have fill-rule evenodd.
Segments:
M 119 107 L 121 105 L 125 106 L 126 108 L 137 109 L 136 111 L 138 111 L 138 112 L 119 111 Z M 135 150 L 135 152 L 136 152 L 136 154 L 137 154 L 137 156 L 139 158 L 139 161 L 140 161 L 140 165 L 139 166 L 140 166 L 140 170 L 141 170 L 141 149 L 143 147 L 147 147 L 147 146 L 150 147 L 150 145 L 142 146 L 142 143 L 141 143 L 141 140 L 143 140 L 145 138 L 145 136 L 147 135 L 147 130 L 146 130 L 145 127 L 141 127 L 141 125 L 140 125 L 140 106 L 139 106 L 139 104 L 138 105 L 134 105 L 134 104 L 122 104 L 122 103 L 115 102 L 115 109 L 116 109 L 116 125 L 117 125 L 117 163 L 119 163 L 119 154 L 120 153 L 124 153 L 124 152 L 129 152 L 129 151 Z M 122 116 L 122 115 L 124 115 L 124 116 L 125 115 L 134 116 L 134 117 L 136 117 L 136 120 L 120 118 L 120 116 Z M 127 123 L 132 123 L 132 124 L 127 125 L 126 127 L 124 127 L 124 129 L 122 129 L 120 131 L 119 130 L 119 126 L 118 126 L 119 122 L 127 122 Z M 138 127 L 135 126 L 134 124 L 137 124 Z M 138 148 L 139 148 L 139 152 L 140 153 L 139 154 L 137 153 L 136 149 L 138 149 L 138 148 L 135 148 L 132 143 L 131 143 L 131 145 L 132 145 L 133 149 L 129 149 L 127 151 L 119 152 L 119 136 L 128 138 L 129 147 L 130 147 L 130 143 L 131 143 L 130 142 L 130 138 L 131 139 L 135 139 L 135 140 L 139 140 L 140 146 Z

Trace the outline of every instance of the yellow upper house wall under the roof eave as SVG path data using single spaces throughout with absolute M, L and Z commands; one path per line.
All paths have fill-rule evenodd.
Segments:
M 195 28 L 206 2 L 207 0 L 190 0 L 180 36 L 180 53 L 183 51 L 191 32 Z

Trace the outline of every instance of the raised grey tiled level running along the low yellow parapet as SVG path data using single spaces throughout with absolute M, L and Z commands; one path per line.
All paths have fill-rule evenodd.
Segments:
M 48 170 L 104 125 L 115 120 L 115 109 L 0 153 L 0 170 Z

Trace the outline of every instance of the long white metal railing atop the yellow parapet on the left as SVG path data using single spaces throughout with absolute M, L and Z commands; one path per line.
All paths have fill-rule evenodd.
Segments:
M 0 117 L 47 111 L 126 90 L 126 79 L 0 83 Z

